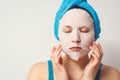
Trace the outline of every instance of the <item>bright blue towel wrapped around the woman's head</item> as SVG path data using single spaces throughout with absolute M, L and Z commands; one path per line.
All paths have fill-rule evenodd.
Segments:
M 92 6 L 90 4 L 88 4 L 87 0 L 63 0 L 60 8 L 58 9 L 58 11 L 56 13 L 56 17 L 55 17 L 55 21 L 54 21 L 55 37 L 59 40 L 59 36 L 58 36 L 59 21 L 61 20 L 63 15 L 74 6 L 78 6 L 82 9 L 86 10 L 88 13 L 90 13 L 90 15 L 92 16 L 93 21 L 94 21 L 94 30 L 95 30 L 94 38 L 95 38 L 95 40 L 97 40 L 99 38 L 99 34 L 101 32 L 100 21 L 99 21 L 96 11 L 92 8 Z

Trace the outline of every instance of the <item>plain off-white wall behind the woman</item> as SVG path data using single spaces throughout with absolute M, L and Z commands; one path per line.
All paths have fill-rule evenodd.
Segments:
M 102 62 L 120 70 L 120 1 L 89 0 L 101 19 Z M 26 80 L 49 59 L 57 40 L 53 21 L 61 0 L 0 0 L 0 80 Z

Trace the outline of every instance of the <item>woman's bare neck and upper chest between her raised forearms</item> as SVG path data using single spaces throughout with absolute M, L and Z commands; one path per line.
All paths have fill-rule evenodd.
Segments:
M 66 68 L 71 80 L 78 80 L 80 78 L 88 62 L 89 62 L 89 58 L 87 55 L 80 58 L 78 61 L 72 60 L 67 55 L 63 56 L 63 65 Z

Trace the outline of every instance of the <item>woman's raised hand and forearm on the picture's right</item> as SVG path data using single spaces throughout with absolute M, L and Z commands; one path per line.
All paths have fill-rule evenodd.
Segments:
M 93 45 L 90 47 L 90 49 L 92 50 L 92 54 L 89 63 L 85 67 L 85 72 L 83 74 L 84 80 L 95 80 L 103 57 L 103 51 L 100 43 L 93 42 Z

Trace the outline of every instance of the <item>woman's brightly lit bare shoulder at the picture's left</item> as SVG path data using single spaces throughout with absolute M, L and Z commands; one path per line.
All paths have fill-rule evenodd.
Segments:
M 47 80 L 47 73 L 47 62 L 36 63 L 31 67 L 27 80 Z

